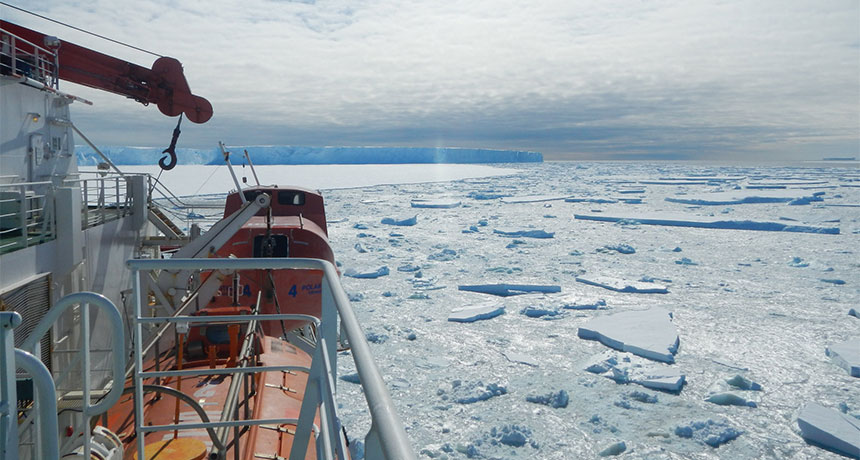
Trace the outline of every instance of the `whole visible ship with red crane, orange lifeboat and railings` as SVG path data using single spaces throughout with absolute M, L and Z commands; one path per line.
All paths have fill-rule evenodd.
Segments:
M 70 117 L 89 102 L 59 88 L 206 122 L 181 64 L 148 69 L 5 21 L 0 47 L 0 457 L 348 458 L 335 377 L 351 348 L 366 457 L 414 458 L 318 192 L 237 181 L 224 218 L 191 238 L 155 204 L 183 206 L 157 179 L 104 155 L 78 171 L 76 138 L 101 153 Z

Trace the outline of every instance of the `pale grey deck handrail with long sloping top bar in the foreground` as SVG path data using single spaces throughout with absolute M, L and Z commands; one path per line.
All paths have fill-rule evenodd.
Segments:
M 364 333 L 361 330 L 361 326 L 358 323 L 358 319 L 355 316 L 355 313 L 352 310 L 352 307 L 349 303 L 349 298 L 347 297 L 346 292 L 343 289 L 339 282 L 339 277 L 337 275 L 337 271 L 330 262 L 321 260 L 321 259 L 306 259 L 306 258 L 235 258 L 235 259 L 216 259 L 216 258 L 202 258 L 202 259 L 133 259 L 127 262 L 129 268 L 132 270 L 132 282 L 134 284 L 134 299 L 135 299 L 135 317 L 143 318 L 142 312 L 142 304 L 141 304 L 141 273 L 151 270 L 168 270 L 168 271 L 178 271 L 178 270 L 283 270 L 283 269 L 297 269 L 297 270 L 317 270 L 323 272 L 323 289 L 322 289 L 322 334 L 320 336 L 320 340 L 317 341 L 317 346 L 314 350 L 314 359 L 312 361 L 312 369 L 311 374 L 314 374 L 314 368 L 316 366 L 320 366 L 323 369 L 322 374 L 324 377 L 322 379 L 318 379 L 315 381 L 308 382 L 308 388 L 306 389 L 306 399 L 308 398 L 307 393 L 310 392 L 318 392 L 318 404 L 319 406 L 312 407 L 310 404 L 302 405 L 302 409 L 300 411 L 299 420 L 305 419 L 305 415 L 310 413 L 309 417 L 312 421 L 313 414 L 316 413 L 317 410 L 320 412 L 321 421 L 326 419 L 329 423 L 335 424 L 338 426 L 339 420 L 337 420 L 336 416 L 336 404 L 333 404 L 333 401 L 326 403 L 325 394 L 330 390 L 334 389 L 334 379 L 333 374 L 335 372 L 334 362 L 337 356 L 336 347 L 332 347 L 330 344 L 334 342 L 333 337 L 331 337 L 331 331 L 335 330 L 336 318 L 332 318 L 329 316 L 332 313 L 327 313 L 327 310 L 331 309 L 331 306 L 336 308 L 336 315 L 340 317 L 341 320 L 341 329 L 343 333 L 346 335 L 347 340 L 350 343 L 352 349 L 352 357 L 355 362 L 356 370 L 359 375 L 359 379 L 361 381 L 361 385 L 364 389 L 365 399 L 367 401 L 368 409 L 370 411 L 371 416 L 371 427 L 365 438 L 365 457 L 369 459 L 375 458 L 383 458 L 383 459 L 415 459 L 415 453 L 412 450 L 412 447 L 409 443 L 409 440 L 406 436 L 406 431 L 403 427 L 403 423 L 400 420 L 397 412 L 394 408 L 394 403 L 391 400 L 391 396 L 388 394 L 388 389 L 385 385 L 385 381 L 382 379 L 382 375 L 379 372 L 379 369 L 376 366 L 376 363 L 373 360 L 373 356 L 370 352 L 370 345 L 367 343 L 367 339 L 365 338 Z M 252 320 L 252 317 L 256 315 L 249 315 L 244 318 L 244 320 Z M 279 315 L 261 315 L 261 316 L 279 316 Z M 151 321 L 151 317 L 146 317 L 146 321 Z M 175 319 L 167 319 L 169 317 L 163 317 L 165 321 L 177 321 Z M 215 319 L 214 316 L 208 317 L 207 320 L 212 321 Z M 258 318 L 259 319 L 259 318 Z M 142 336 L 142 324 L 140 322 L 135 321 L 134 331 L 136 337 Z M 329 331 L 329 332 L 327 332 Z M 327 343 L 329 340 L 331 342 Z M 140 382 L 140 378 L 142 377 L 142 372 L 139 369 L 143 367 L 142 354 L 140 353 L 142 350 L 141 340 L 135 339 L 135 359 L 136 366 L 138 371 L 136 372 L 135 382 L 136 384 Z M 316 369 L 320 369 L 320 367 L 316 367 Z M 247 369 L 243 368 L 233 368 L 238 373 L 247 372 Z M 259 370 L 259 368 L 257 369 Z M 221 369 L 220 371 L 226 371 L 225 369 Z M 149 376 L 154 376 L 152 373 L 148 373 Z M 138 413 L 143 413 L 143 398 L 141 392 L 136 392 L 135 394 L 135 405 L 137 407 Z M 334 417 L 332 417 L 334 416 Z M 334 419 L 332 419 L 334 418 Z M 259 424 L 259 421 L 241 421 L 245 424 Z M 240 423 L 240 422 L 212 422 L 211 425 L 207 426 L 231 426 L 232 424 Z M 268 422 L 268 423 L 271 423 Z M 141 435 L 137 438 L 138 443 L 138 451 L 142 454 L 144 448 L 144 436 L 143 432 L 146 431 L 158 431 L 162 429 L 174 429 L 176 425 L 166 425 L 159 427 L 145 427 L 142 426 L 142 420 L 135 422 L 136 427 L 140 428 Z M 184 428 L 193 428 L 193 427 L 202 427 L 202 424 L 183 424 L 186 425 Z M 182 425 L 178 425 L 182 427 Z M 322 431 L 326 431 L 326 427 L 320 427 Z M 332 430 L 327 430 L 328 434 L 321 433 L 318 439 L 318 449 L 322 450 L 324 456 L 329 456 L 332 453 L 332 450 L 336 450 L 338 454 L 343 455 L 342 444 L 337 442 L 335 436 L 339 434 L 336 432 L 332 432 Z M 339 431 L 339 428 L 338 428 Z M 301 455 L 300 458 L 304 458 L 304 453 L 298 452 L 301 451 L 301 446 L 303 442 L 306 444 L 307 437 L 302 437 L 300 432 L 306 432 L 308 435 L 310 434 L 310 427 L 307 423 L 304 425 L 299 423 L 296 429 L 294 449 L 291 452 L 290 458 L 299 458 L 298 455 Z M 332 445 L 332 441 L 337 443 L 338 445 Z M 324 449 L 320 448 L 319 443 L 322 443 L 326 447 Z

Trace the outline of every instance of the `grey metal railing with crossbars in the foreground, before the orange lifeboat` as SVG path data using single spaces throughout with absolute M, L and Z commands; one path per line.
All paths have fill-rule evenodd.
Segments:
M 311 433 L 315 435 L 317 458 L 347 459 L 346 439 L 340 425 L 335 401 L 335 378 L 337 350 L 337 320 L 340 318 L 341 329 L 352 349 L 352 357 L 364 390 L 364 395 L 370 411 L 371 427 L 365 437 L 365 457 L 368 459 L 414 459 L 412 450 L 403 424 L 394 409 L 394 403 L 388 394 L 388 389 L 373 361 L 370 346 L 358 324 L 349 299 L 340 285 L 334 266 L 324 260 L 301 258 L 256 258 L 256 259 L 166 259 L 166 260 L 130 260 L 128 266 L 132 270 L 134 287 L 134 404 L 135 413 L 144 413 L 144 379 L 199 376 L 199 375 L 249 375 L 250 373 L 267 371 L 302 371 L 308 373 L 305 396 L 299 411 L 298 419 L 255 419 L 248 420 L 232 417 L 228 408 L 222 414 L 222 420 L 201 423 L 177 423 L 169 425 L 146 425 L 143 417 L 135 418 L 138 456 L 144 453 L 144 435 L 152 431 L 176 431 L 225 429 L 239 426 L 295 424 L 294 442 L 290 451 L 290 460 L 303 459 L 306 456 Z M 141 272 L 152 270 L 221 270 L 223 272 L 236 270 L 316 270 L 323 273 L 322 280 L 322 314 L 317 319 L 307 315 L 266 314 L 266 315 L 221 315 L 221 316 L 151 316 L 144 312 L 141 299 L 143 279 L 148 275 Z M 244 366 L 239 362 L 236 366 L 216 369 L 189 369 L 167 371 L 143 371 L 143 325 L 144 324 L 207 324 L 224 322 L 254 323 L 266 320 L 296 320 L 301 319 L 317 325 L 317 339 L 312 350 L 310 368 L 301 366 Z M 244 346 L 243 346 L 244 348 Z M 320 426 L 314 425 L 314 418 L 319 414 Z M 236 409 L 238 415 L 238 409 Z M 247 415 L 247 409 L 246 409 Z M 213 440 L 214 441 L 214 440 Z M 219 440 L 220 441 L 220 440 Z M 214 443 L 216 446 L 218 443 Z M 239 449 L 238 439 L 234 439 L 233 448 Z M 213 452 L 214 457 L 220 458 L 222 452 Z M 210 454 L 210 455 L 212 455 Z

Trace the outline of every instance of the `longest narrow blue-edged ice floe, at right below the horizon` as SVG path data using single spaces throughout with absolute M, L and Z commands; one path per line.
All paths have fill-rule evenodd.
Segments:
M 642 225 L 663 225 L 669 227 L 694 227 L 724 230 L 755 230 L 763 232 L 793 232 L 793 233 L 823 233 L 838 235 L 839 227 L 823 227 L 813 225 L 791 225 L 782 222 L 725 219 L 718 217 L 691 216 L 678 213 L 654 213 L 647 216 L 635 214 L 574 214 L 578 220 L 593 220 L 598 222 L 638 223 Z

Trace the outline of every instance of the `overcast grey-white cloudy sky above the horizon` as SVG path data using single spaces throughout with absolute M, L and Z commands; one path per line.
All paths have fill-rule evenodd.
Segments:
M 179 59 L 215 115 L 180 147 L 485 147 L 560 158 L 860 157 L 860 2 L 4 0 Z M 5 20 L 154 57 L 0 5 Z M 100 145 L 155 107 L 73 84 Z

